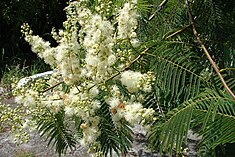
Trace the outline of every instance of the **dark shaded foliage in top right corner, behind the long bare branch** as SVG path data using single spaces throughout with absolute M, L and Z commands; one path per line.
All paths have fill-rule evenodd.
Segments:
M 201 0 L 192 3 L 197 29 L 221 68 L 234 67 L 235 1 Z M 206 23 L 206 24 L 205 24 Z M 235 73 L 233 72 L 233 75 Z

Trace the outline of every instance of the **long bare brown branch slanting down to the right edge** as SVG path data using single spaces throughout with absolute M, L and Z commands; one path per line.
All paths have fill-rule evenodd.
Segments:
M 207 50 L 206 46 L 203 44 L 202 42 L 202 39 L 199 37 L 198 33 L 197 33 L 197 30 L 196 30 L 196 27 L 195 27 L 195 22 L 194 22 L 194 19 L 193 19 L 193 16 L 192 16 L 192 12 L 191 12 L 191 9 L 190 9 L 190 6 L 189 6 L 189 1 L 186 0 L 185 1 L 185 4 L 186 4 L 186 7 L 187 7 L 187 12 L 188 12 L 188 16 L 189 16 L 189 21 L 190 21 L 190 24 L 192 25 L 192 29 L 193 29 L 193 34 L 194 36 L 197 38 L 197 41 L 198 43 L 200 44 L 200 46 L 202 47 L 204 53 L 206 54 L 207 56 L 207 59 L 210 61 L 212 67 L 214 68 L 214 70 L 216 71 L 217 75 L 219 76 L 223 86 L 225 87 L 225 89 L 227 90 L 227 92 L 233 97 L 233 99 L 235 100 L 235 95 L 234 93 L 232 92 L 232 90 L 228 87 L 227 83 L 225 82 L 223 76 L 221 75 L 220 73 L 220 70 L 219 70 L 219 67 L 216 65 L 216 63 L 213 61 L 213 59 L 211 58 L 210 56 L 210 53 L 209 51 Z

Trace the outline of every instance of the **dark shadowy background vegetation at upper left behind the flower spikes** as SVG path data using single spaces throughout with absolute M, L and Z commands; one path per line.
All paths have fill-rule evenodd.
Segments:
M 27 42 L 25 42 L 21 25 L 28 22 L 35 34 L 53 43 L 51 28 L 61 28 L 65 20 L 64 0 L 1 0 L 0 1 L 0 77 L 11 65 L 23 68 L 41 64 L 39 70 L 48 69 L 40 61 Z

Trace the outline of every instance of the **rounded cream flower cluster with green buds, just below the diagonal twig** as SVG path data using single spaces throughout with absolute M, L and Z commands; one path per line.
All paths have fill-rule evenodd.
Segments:
M 152 82 L 154 76 L 151 73 L 141 74 L 135 71 L 125 71 L 121 75 L 121 82 L 126 86 L 127 90 L 131 93 L 143 90 L 144 92 L 150 92 L 152 89 Z

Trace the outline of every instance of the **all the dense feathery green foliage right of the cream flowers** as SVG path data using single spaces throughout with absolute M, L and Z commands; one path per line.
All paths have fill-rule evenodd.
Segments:
M 222 75 L 234 92 L 234 1 L 195 1 L 191 8 L 200 37 L 218 66 L 226 69 Z M 151 54 L 155 58 L 146 59 L 157 77 L 155 103 L 165 111 L 149 133 L 150 147 L 179 153 L 188 129 L 197 127 L 203 135 L 198 145 L 201 156 L 226 154 L 228 150 L 221 147 L 235 142 L 234 99 L 222 86 L 189 23 L 183 1 L 169 1 L 147 22 L 151 32 L 146 37 L 153 36 L 157 40 L 153 43 L 159 44 Z

